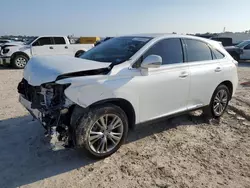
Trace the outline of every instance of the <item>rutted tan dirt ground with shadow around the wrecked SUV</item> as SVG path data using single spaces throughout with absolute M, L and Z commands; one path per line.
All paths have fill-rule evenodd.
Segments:
M 239 66 L 250 81 L 250 63 Z M 0 187 L 250 187 L 250 85 L 239 85 L 220 122 L 199 112 L 143 125 L 118 152 L 92 160 L 51 151 L 18 103 L 22 70 L 0 69 Z

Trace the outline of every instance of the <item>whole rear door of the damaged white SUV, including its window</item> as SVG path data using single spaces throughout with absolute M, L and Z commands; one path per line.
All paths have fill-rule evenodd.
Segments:
M 222 66 L 213 58 L 209 45 L 196 39 L 184 39 L 186 64 L 190 70 L 188 109 L 208 105 L 221 80 Z

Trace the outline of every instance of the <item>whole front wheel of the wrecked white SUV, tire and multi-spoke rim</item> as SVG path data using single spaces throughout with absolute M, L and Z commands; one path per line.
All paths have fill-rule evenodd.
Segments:
M 128 119 L 118 106 L 105 104 L 90 109 L 79 121 L 78 143 L 94 157 L 104 158 L 116 152 L 128 133 Z

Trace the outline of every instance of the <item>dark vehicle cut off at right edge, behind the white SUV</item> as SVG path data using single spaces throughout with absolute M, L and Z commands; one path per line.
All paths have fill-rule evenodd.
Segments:
M 250 59 L 250 40 L 245 40 L 235 46 L 226 46 L 225 49 L 237 61 Z

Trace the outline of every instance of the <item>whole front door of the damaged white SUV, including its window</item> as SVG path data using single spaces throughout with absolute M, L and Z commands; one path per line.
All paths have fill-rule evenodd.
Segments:
M 179 38 L 163 39 L 144 55 L 162 57 L 159 68 L 149 68 L 147 76 L 137 78 L 141 122 L 185 111 L 190 74 L 183 63 L 183 48 Z M 136 65 L 138 66 L 138 65 Z

